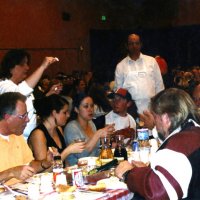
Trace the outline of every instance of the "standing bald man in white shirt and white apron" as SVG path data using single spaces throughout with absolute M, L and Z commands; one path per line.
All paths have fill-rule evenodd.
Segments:
M 141 53 L 140 36 L 128 36 L 128 56 L 118 63 L 115 71 L 115 87 L 127 89 L 139 113 L 148 110 L 150 98 L 164 89 L 156 60 Z

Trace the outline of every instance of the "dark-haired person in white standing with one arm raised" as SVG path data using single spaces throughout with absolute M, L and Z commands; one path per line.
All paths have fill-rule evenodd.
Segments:
M 36 127 L 36 115 L 33 107 L 33 88 L 40 80 L 43 72 L 49 65 L 58 61 L 55 57 L 45 57 L 42 64 L 30 75 L 30 55 L 24 49 L 8 51 L 1 61 L 0 67 L 0 94 L 5 92 L 20 92 L 27 97 L 26 105 L 29 122 L 23 132 L 25 139 Z

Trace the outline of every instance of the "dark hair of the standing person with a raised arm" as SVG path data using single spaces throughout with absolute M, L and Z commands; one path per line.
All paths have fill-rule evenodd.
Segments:
M 10 78 L 12 76 L 10 70 L 19 65 L 25 57 L 27 57 L 29 64 L 30 54 L 24 49 L 12 49 L 8 51 L 1 61 L 0 78 Z

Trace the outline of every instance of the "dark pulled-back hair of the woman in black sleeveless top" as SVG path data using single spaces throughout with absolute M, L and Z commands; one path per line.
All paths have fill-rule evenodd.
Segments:
M 68 101 L 57 94 L 52 94 L 50 96 L 45 96 L 40 99 L 35 99 L 34 107 L 37 115 L 42 119 L 49 117 L 53 110 L 57 113 L 65 106 L 68 105 Z

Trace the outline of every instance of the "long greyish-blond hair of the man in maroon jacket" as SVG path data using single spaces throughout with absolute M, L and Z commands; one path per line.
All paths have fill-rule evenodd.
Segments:
M 188 118 L 200 122 L 197 106 L 190 95 L 181 89 L 170 88 L 158 93 L 151 99 L 150 108 L 155 114 L 168 114 L 171 121 L 170 132 L 183 125 Z

